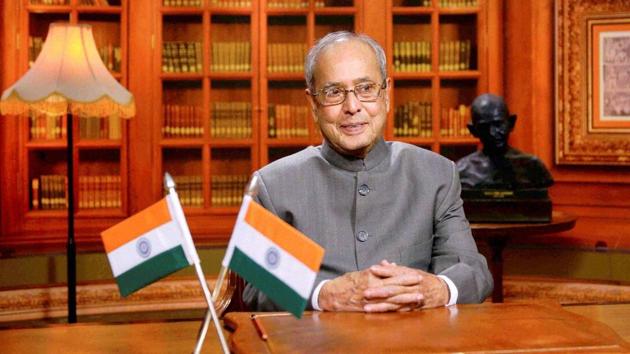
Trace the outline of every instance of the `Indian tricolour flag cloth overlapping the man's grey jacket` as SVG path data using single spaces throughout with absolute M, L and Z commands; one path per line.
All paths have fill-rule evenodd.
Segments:
M 321 246 L 245 196 L 223 266 L 300 318 L 323 258 Z

